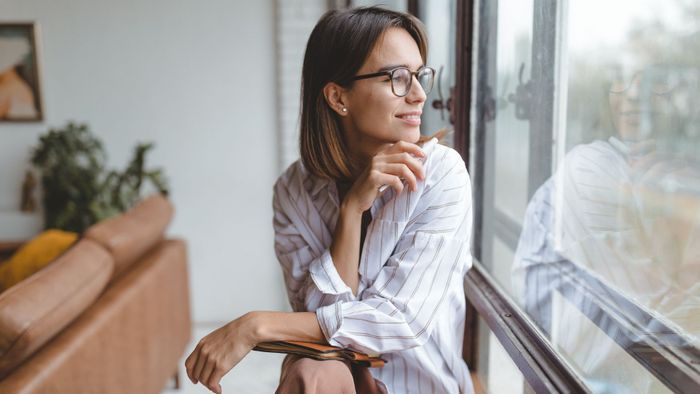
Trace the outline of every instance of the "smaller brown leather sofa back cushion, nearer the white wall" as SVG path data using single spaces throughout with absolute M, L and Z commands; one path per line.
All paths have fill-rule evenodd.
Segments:
M 84 236 L 112 254 L 114 281 L 164 238 L 172 216 L 170 201 L 161 195 L 154 195 L 121 215 L 96 223 Z

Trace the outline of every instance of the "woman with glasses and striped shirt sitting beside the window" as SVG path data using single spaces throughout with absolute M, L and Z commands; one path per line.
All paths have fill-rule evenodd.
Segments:
M 185 363 L 193 382 L 220 392 L 256 343 L 304 340 L 388 363 L 289 356 L 280 393 L 472 392 L 461 358 L 471 189 L 457 152 L 416 144 L 434 77 L 425 37 L 414 17 L 381 8 L 318 22 L 302 71 L 301 160 L 274 189 L 295 312 L 250 312 L 203 338 Z

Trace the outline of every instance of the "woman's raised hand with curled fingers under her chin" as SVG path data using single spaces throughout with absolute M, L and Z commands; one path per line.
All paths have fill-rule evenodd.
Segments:
M 360 213 L 370 209 L 380 193 L 379 188 L 389 185 L 396 194 L 403 191 L 404 180 L 410 190 L 418 189 L 418 179 L 425 179 L 425 153 L 416 144 L 399 141 L 377 153 L 348 191 L 343 203 L 352 205 Z

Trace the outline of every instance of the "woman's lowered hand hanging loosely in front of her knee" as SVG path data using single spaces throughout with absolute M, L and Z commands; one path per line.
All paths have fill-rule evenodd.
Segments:
M 250 314 L 243 315 L 202 338 L 185 360 L 192 383 L 201 382 L 221 394 L 219 381 L 255 347 Z

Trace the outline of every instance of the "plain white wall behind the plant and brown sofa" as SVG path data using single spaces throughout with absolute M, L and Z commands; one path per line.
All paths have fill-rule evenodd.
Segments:
M 3 0 L 41 27 L 45 121 L 0 123 L 0 210 L 16 210 L 29 148 L 87 122 L 110 166 L 154 141 L 189 244 L 195 321 L 286 307 L 273 251 L 279 173 L 273 1 Z M 2 223 L 0 223 L 0 227 Z

